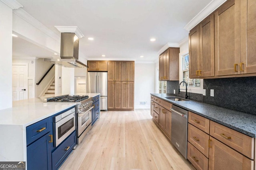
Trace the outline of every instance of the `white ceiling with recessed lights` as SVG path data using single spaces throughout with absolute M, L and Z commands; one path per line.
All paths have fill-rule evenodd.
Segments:
M 77 26 L 84 34 L 79 50 L 88 59 L 146 62 L 156 61 L 158 51 L 166 43 L 179 43 L 188 37 L 183 27 L 211 0 L 17 1 L 57 35 L 60 32 L 54 26 Z M 151 38 L 156 41 L 150 41 Z M 17 37 L 13 43 L 13 54 L 17 56 L 53 56 L 52 52 Z

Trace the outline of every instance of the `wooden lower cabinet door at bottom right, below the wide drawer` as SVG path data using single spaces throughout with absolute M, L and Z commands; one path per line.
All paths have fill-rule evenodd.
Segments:
M 209 170 L 252 170 L 254 161 L 210 137 Z

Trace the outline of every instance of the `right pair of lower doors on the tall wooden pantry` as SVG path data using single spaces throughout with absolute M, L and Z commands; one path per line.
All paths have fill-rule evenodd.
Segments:
M 134 82 L 121 82 L 121 109 L 134 109 Z

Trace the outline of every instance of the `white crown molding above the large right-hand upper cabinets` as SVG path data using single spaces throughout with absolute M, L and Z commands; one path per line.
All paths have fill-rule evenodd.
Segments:
M 183 28 L 190 31 L 194 26 L 200 23 L 209 14 L 214 12 L 219 6 L 221 6 L 226 0 L 212 0 L 204 9 L 202 9 L 191 21 L 187 23 Z

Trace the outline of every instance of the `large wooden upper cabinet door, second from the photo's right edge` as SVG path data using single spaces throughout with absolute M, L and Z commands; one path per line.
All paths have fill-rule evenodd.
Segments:
M 240 74 L 240 0 L 228 0 L 214 12 L 215 76 Z

